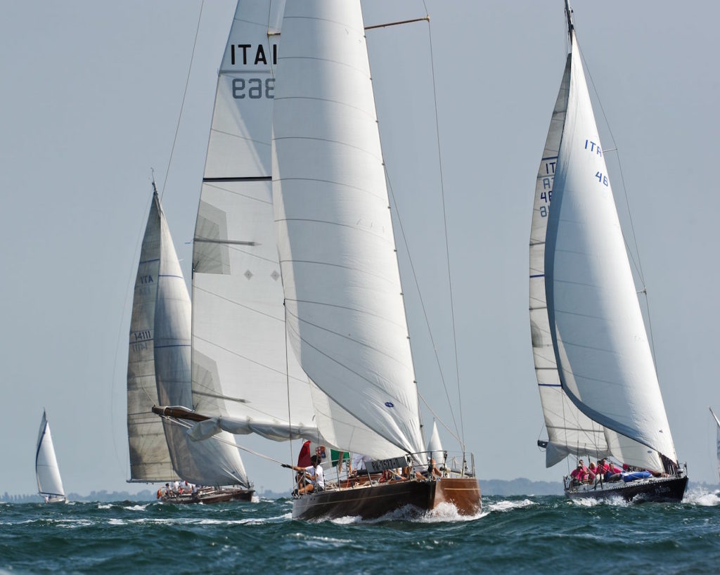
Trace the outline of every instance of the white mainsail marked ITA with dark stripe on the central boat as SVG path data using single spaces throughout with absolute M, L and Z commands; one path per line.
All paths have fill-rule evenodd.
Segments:
M 238 2 L 220 67 L 193 248 L 192 435 L 397 449 L 325 396 L 287 339 L 271 137 L 283 1 Z M 363 438 L 372 435 L 374 443 Z

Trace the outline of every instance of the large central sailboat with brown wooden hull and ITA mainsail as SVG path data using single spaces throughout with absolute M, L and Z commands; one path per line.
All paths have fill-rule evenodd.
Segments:
M 442 502 L 472 515 L 480 510 L 472 455 L 463 453 L 454 476 L 440 481 L 380 482 L 387 468 L 427 467 L 428 453 L 364 25 L 359 3 L 337 4 L 288 4 L 282 38 L 292 58 L 282 60 L 284 3 L 238 3 L 217 82 L 193 244 L 194 410 L 160 405 L 154 411 L 194 421 L 190 433 L 197 440 L 220 430 L 302 438 L 328 468 L 333 450 L 372 459 L 366 475 L 338 474 L 323 492 L 294 499 L 296 518 L 378 517 Z M 318 27 L 323 18 L 336 23 Z M 308 66 L 312 58 L 303 56 L 313 50 L 315 58 L 339 58 L 333 78 Z M 360 73 L 338 76 L 348 64 Z M 303 99 L 335 100 L 336 109 L 301 109 Z M 342 166 L 326 161 L 352 142 L 335 150 L 316 144 L 345 130 L 360 137 L 364 151 L 344 157 Z M 345 168 L 345 175 L 338 173 Z M 321 196 L 307 195 L 305 178 L 318 184 Z M 353 186 L 374 191 L 357 194 Z M 343 205 L 343 217 L 333 217 Z M 323 225 L 328 218 L 333 223 Z M 296 227 L 300 219 L 318 226 Z M 328 228 L 343 225 L 354 228 L 354 240 L 328 235 Z M 345 272 L 328 275 L 331 268 Z

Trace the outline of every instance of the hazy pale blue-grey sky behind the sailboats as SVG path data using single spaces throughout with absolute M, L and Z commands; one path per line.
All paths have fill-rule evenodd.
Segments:
M 143 487 L 125 483 L 125 376 L 150 167 L 189 278 L 217 67 L 235 9 L 235 0 L 205 3 L 174 144 L 200 4 L 1 3 L 0 493 L 35 491 L 43 407 L 68 492 Z M 366 25 L 424 13 L 419 0 L 385 4 L 364 5 Z M 678 457 L 691 480 L 717 483 L 707 407 L 720 409 L 720 5 L 577 0 L 574 8 L 614 136 L 595 104 L 625 225 L 618 156 L 608 152 L 619 150 Z M 528 238 L 567 49 L 563 2 L 428 0 L 428 9 L 467 448 L 481 479 L 559 481 L 566 463 L 546 469 L 536 447 L 546 434 L 528 325 Z M 390 182 L 456 405 L 428 27 L 367 36 Z M 420 391 L 451 423 L 398 243 Z M 239 443 L 290 458 L 287 444 Z M 243 461 L 256 486 L 289 489 L 276 464 Z

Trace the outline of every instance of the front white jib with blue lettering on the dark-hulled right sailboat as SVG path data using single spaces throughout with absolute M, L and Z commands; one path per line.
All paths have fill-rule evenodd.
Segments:
M 621 461 L 653 470 L 664 468 L 658 453 L 677 461 L 574 32 L 545 273 L 570 399 L 617 432 L 608 442 Z

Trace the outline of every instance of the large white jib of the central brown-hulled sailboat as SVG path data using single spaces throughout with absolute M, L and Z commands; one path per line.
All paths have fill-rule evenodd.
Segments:
M 273 205 L 292 347 L 343 409 L 423 451 L 359 2 L 288 4 L 282 34 Z

